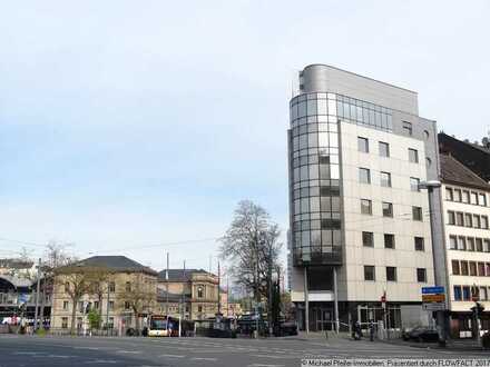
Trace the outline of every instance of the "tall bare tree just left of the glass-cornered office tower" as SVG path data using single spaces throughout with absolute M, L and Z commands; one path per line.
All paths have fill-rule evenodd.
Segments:
M 281 230 L 261 206 L 243 200 L 219 248 L 220 257 L 231 262 L 235 281 L 252 291 L 255 300 L 267 298 L 272 317 L 272 277 L 281 269 L 278 242 Z

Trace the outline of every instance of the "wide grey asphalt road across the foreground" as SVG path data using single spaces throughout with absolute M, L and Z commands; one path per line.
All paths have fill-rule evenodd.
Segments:
M 325 358 L 461 358 L 460 351 L 346 339 L 70 338 L 0 336 L 7 366 L 226 366 L 297 367 L 305 355 Z M 488 358 L 488 353 L 464 353 Z

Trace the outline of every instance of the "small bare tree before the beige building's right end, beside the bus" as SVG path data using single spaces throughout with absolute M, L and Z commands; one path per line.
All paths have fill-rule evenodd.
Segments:
M 135 327 L 139 333 L 139 316 L 150 311 L 156 304 L 156 279 L 144 272 L 133 275 L 131 281 L 127 281 L 124 290 L 117 294 L 117 301 L 122 309 L 130 309 L 135 315 Z

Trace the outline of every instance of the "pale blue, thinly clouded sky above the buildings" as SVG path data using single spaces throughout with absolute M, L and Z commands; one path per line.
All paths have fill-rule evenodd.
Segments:
M 0 257 L 55 239 L 207 268 L 244 198 L 285 232 L 308 63 L 415 90 L 459 138 L 490 130 L 489 1 L 0 4 Z

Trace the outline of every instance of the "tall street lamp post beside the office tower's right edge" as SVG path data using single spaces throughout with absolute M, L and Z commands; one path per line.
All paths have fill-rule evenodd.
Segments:
M 434 210 L 433 209 L 433 195 L 434 195 L 434 189 L 438 189 L 442 186 L 441 181 L 439 180 L 428 180 L 428 181 L 421 181 L 419 182 L 419 190 L 420 189 L 424 189 L 428 190 L 428 197 L 429 197 L 429 218 L 430 218 L 430 225 L 431 225 L 431 239 L 432 239 L 432 249 L 434 248 L 434 240 L 435 240 L 435 217 L 434 217 Z M 443 251 L 444 254 L 444 262 L 445 262 L 445 249 Z M 434 254 L 434 251 L 432 251 L 432 258 L 434 261 L 434 282 L 435 286 L 444 286 L 444 308 L 447 309 L 447 305 L 448 305 L 448 287 L 445 284 L 445 279 L 444 277 L 440 274 L 440 266 L 438 264 L 438 259 L 437 256 Z M 445 326 L 444 326 L 444 311 L 442 310 L 437 310 L 435 311 L 437 315 L 437 326 L 438 326 L 438 334 L 439 334 L 439 345 L 442 347 L 445 347 Z

